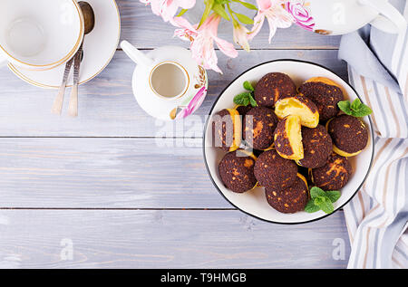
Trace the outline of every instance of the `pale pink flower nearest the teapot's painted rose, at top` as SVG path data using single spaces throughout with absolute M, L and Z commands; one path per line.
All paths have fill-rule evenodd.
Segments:
M 295 19 L 284 8 L 283 0 L 257 0 L 257 15 L 254 18 L 254 26 L 248 33 L 252 40 L 259 33 L 265 18 L 269 24 L 269 43 L 277 32 L 277 28 L 288 28 Z

